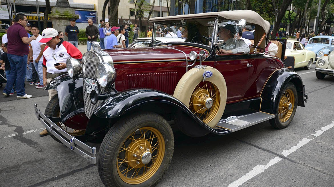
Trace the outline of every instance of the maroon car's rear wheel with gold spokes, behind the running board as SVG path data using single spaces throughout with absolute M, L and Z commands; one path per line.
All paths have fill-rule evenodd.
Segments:
M 287 84 L 279 98 L 275 118 L 269 122 L 274 128 L 282 129 L 291 123 L 296 113 L 298 103 L 296 86 L 292 83 Z

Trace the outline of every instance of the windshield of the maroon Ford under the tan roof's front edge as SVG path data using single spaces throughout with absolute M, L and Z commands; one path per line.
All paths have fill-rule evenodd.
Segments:
M 179 42 L 179 39 L 173 38 L 182 38 L 184 42 L 211 46 L 214 20 L 202 18 L 155 23 L 153 34 L 155 37 L 171 38 L 168 42 Z M 154 41 L 154 44 L 157 42 Z

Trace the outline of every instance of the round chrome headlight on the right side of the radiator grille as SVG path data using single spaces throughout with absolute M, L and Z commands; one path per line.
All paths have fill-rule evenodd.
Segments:
M 101 62 L 98 64 L 96 69 L 96 77 L 99 84 L 105 88 L 112 85 L 116 80 L 116 70 L 115 68 L 106 62 Z

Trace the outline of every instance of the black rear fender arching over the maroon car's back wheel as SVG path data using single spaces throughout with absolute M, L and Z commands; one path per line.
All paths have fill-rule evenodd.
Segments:
M 267 81 L 261 94 L 261 111 L 276 114 L 280 95 L 288 83 L 293 83 L 296 86 L 298 106 L 305 106 L 302 78 L 296 72 L 278 70 Z

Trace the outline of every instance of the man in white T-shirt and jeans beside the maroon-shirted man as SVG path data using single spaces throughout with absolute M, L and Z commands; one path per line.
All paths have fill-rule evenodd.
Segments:
M 43 84 L 43 51 L 46 44 L 39 42 L 42 39 L 42 36 L 38 34 L 39 29 L 37 26 L 31 27 L 31 33 L 36 37 L 36 39 L 30 42 L 31 48 L 29 53 L 32 55 L 29 60 L 30 62 L 33 62 L 39 77 L 39 85 L 36 88 L 42 89 L 45 87 Z

